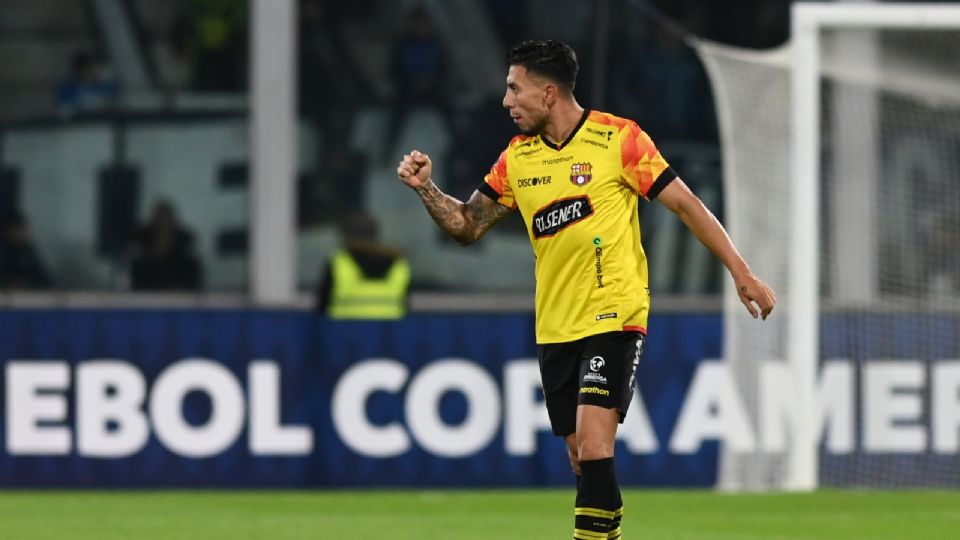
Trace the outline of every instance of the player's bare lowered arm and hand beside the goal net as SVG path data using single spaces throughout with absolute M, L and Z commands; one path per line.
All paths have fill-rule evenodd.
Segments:
M 773 289 L 753 275 L 723 225 L 703 205 L 700 198 L 690 191 L 683 180 L 677 178 L 660 192 L 657 199 L 676 214 L 700 242 L 727 267 L 736 284 L 740 301 L 746 306 L 750 315 L 754 319 L 757 316 L 766 319 L 777 303 Z

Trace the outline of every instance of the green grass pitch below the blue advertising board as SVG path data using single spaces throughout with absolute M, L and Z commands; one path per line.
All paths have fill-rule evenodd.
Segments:
M 0 491 L 0 539 L 572 538 L 573 490 Z M 624 491 L 626 540 L 960 538 L 960 492 Z

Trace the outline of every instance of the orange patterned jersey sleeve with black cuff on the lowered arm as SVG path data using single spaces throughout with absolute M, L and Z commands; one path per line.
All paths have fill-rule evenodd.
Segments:
M 620 130 L 621 178 L 630 189 L 647 199 L 657 195 L 673 182 L 677 173 L 636 122 L 627 122 Z

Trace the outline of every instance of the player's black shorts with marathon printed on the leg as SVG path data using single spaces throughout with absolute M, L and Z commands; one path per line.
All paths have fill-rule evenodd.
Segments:
M 617 409 L 620 423 L 633 399 L 644 335 L 607 332 L 537 347 L 540 379 L 554 435 L 577 430 L 577 405 Z

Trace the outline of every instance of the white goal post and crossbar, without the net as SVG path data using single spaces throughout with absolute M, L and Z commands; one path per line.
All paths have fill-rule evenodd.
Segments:
M 791 193 L 790 363 L 796 366 L 803 402 L 810 415 L 797 434 L 787 489 L 817 487 L 818 419 L 815 386 L 819 367 L 819 201 L 820 201 L 820 36 L 826 28 L 960 29 L 960 5 L 945 4 L 815 4 L 792 6 L 791 117 L 793 164 Z M 960 60 L 960 59 L 958 59 Z M 819 416 L 819 414 L 816 414 Z

